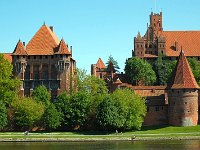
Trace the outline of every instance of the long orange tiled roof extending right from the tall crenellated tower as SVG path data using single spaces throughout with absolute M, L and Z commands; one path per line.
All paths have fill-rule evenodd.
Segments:
M 179 56 L 181 47 L 185 56 L 200 56 L 200 31 L 163 31 L 160 34 L 166 39 L 166 56 Z

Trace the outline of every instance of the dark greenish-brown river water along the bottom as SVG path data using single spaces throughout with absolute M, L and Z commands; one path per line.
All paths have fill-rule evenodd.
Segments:
M 135 142 L 2 142 L 0 150 L 199 150 L 200 140 Z

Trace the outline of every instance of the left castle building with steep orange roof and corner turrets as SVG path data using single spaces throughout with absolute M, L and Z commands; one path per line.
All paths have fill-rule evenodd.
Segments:
M 27 45 L 19 40 L 13 53 L 4 57 L 13 64 L 14 76 L 22 81 L 21 96 L 30 96 L 39 85 L 49 90 L 52 99 L 73 89 L 76 62 L 72 47 L 58 39 L 52 26 L 42 25 Z

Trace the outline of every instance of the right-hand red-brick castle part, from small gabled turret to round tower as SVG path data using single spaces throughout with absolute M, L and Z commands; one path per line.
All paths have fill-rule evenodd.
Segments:
M 154 61 L 162 54 L 170 60 L 178 60 L 171 82 L 167 86 L 130 85 L 123 73 L 115 72 L 112 63 L 105 67 L 100 58 L 91 66 L 91 74 L 103 78 L 110 92 L 117 88 L 131 88 L 144 97 L 147 115 L 143 125 L 197 125 L 200 116 L 199 86 L 186 56 L 200 60 L 199 45 L 200 31 L 164 31 L 162 12 L 151 13 L 146 34 L 141 36 L 138 33 L 134 38 L 132 57 Z

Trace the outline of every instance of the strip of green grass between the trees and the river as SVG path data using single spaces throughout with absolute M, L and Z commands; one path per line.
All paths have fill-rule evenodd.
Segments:
M 73 140 L 114 140 L 131 139 L 136 136 L 137 139 L 159 139 L 159 138 L 199 138 L 200 126 L 193 127 L 172 127 L 172 126 L 151 126 L 143 127 L 140 131 L 129 131 L 123 133 L 110 133 L 100 131 L 82 131 L 82 132 L 30 132 L 25 136 L 23 132 L 0 132 L 0 139 L 73 139 Z

